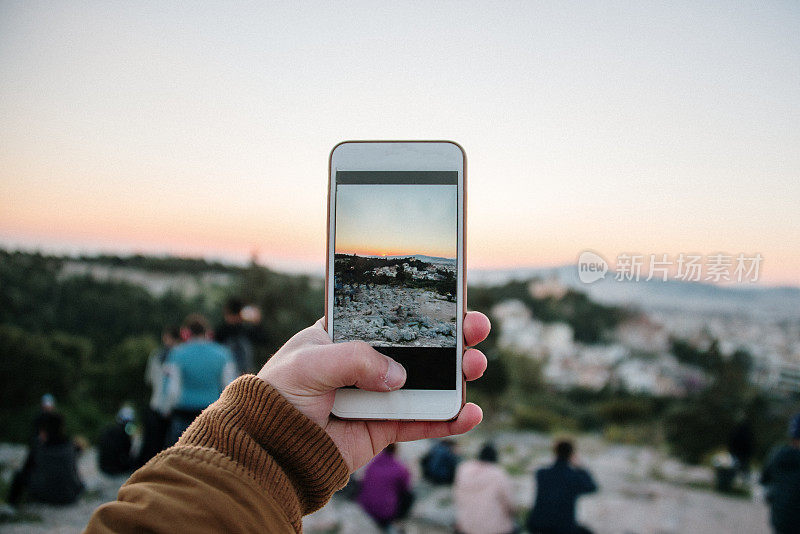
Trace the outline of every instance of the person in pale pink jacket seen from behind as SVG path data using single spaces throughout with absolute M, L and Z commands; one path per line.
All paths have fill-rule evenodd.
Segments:
M 453 496 L 460 534 L 516 532 L 511 479 L 497 465 L 497 450 L 491 443 L 484 444 L 477 460 L 458 466 Z

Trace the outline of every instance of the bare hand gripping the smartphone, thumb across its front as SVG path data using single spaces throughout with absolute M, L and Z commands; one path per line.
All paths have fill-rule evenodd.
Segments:
M 485 315 L 468 312 L 464 318 L 465 346 L 486 339 L 489 329 Z M 467 349 L 461 367 L 467 380 L 480 378 L 486 370 L 486 356 L 477 349 Z M 464 405 L 452 421 L 346 421 L 331 417 L 337 388 L 394 391 L 405 383 L 406 371 L 363 341 L 333 343 L 322 319 L 287 341 L 261 368 L 258 377 L 328 433 L 351 472 L 389 443 L 463 434 L 483 418 L 481 409 L 472 403 Z

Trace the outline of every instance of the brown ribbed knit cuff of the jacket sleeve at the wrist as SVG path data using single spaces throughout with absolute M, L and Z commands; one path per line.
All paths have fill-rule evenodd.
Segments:
M 349 476 L 328 434 L 253 375 L 225 388 L 178 446 L 213 448 L 242 466 L 286 507 L 298 531 L 300 518 L 324 506 Z

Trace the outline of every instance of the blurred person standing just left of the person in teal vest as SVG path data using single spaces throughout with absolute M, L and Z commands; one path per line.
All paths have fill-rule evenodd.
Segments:
M 169 408 L 164 391 L 164 365 L 169 351 L 181 342 L 180 328 L 168 326 L 161 333 L 161 346 L 147 359 L 144 381 L 151 388 L 150 404 L 144 413 L 144 439 L 137 465 L 142 466 L 164 449 L 169 430 Z

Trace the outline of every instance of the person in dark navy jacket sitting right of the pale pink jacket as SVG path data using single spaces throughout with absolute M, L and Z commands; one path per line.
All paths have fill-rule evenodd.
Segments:
M 597 491 L 592 475 L 573 465 L 575 446 L 562 440 L 555 446 L 556 461 L 536 472 L 536 502 L 528 516 L 532 534 L 591 534 L 575 520 L 575 503 Z

